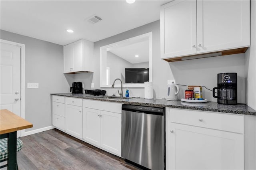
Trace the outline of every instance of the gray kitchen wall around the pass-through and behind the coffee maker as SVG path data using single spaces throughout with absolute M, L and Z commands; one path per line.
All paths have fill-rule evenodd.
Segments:
M 209 89 L 217 86 L 217 73 L 238 73 L 238 103 L 246 102 L 246 72 L 244 54 L 209 57 L 187 61 L 168 63 L 160 59 L 160 20 L 144 26 L 123 32 L 116 36 L 106 38 L 94 43 L 94 62 L 100 63 L 100 47 L 111 43 L 126 40 L 141 34 L 152 32 L 153 44 L 153 89 L 154 98 L 166 97 L 167 80 L 176 79 L 176 83 L 183 85 L 204 85 Z M 255 66 L 255 64 L 254 64 Z M 80 79 L 81 81 L 95 83 L 95 88 L 100 88 L 100 65 L 95 65 L 92 79 Z M 82 73 L 87 74 L 87 73 Z M 81 78 L 82 75 L 79 75 Z M 186 87 L 181 87 L 178 99 L 184 97 Z M 108 95 L 118 94 L 118 88 L 109 88 Z M 130 88 L 130 96 L 144 97 L 143 88 Z M 203 88 L 203 96 L 209 101 L 217 101 L 212 97 L 212 92 Z

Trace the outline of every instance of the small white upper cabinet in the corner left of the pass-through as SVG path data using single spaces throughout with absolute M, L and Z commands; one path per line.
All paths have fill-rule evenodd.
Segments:
M 64 73 L 92 72 L 93 42 L 79 40 L 63 47 Z

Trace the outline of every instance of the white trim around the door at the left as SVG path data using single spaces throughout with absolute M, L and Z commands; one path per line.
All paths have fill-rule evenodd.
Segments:
M 10 42 L 0 39 L 0 42 L 20 46 L 20 117 L 25 119 L 25 44 Z M 25 130 L 20 130 L 20 136 L 24 136 Z

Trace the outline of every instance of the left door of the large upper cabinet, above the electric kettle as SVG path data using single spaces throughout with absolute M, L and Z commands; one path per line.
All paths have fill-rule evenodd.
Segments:
M 161 58 L 196 53 L 196 0 L 170 2 L 160 16 Z

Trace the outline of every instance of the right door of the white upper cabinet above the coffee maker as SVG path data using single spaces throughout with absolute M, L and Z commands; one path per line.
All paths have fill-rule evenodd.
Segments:
M 250 46 L 250 0 L 198 0 L 197 43 L 198 53 Z

